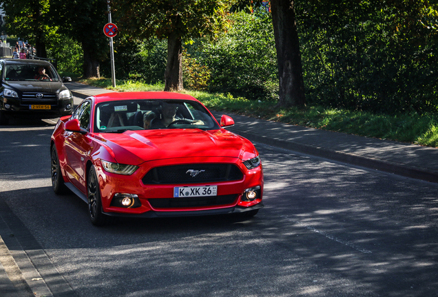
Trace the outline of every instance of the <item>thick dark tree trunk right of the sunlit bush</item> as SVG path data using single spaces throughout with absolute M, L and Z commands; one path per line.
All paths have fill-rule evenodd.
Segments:
M 271 0 L 281 107 L 304 106 L 304 80 L 293 0 Z

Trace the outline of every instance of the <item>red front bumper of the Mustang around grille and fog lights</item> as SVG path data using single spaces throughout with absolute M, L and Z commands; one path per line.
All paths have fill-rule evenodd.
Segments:
M 208 157 L 203 159 L 206 163 L 224 162 L 222 157 Z M 196 164 L 199 160 L 196 158 L 189 159 L 174 159 L 149 162 L 147 166 L 140 166 L 133 175 L 116 175 L 107 173 L 101 166 L 96 166 L 98 178 L 101 186 L 101 199 L 103 212 L 109 215 L 116 216 L 135 216 L 135 217 L 184 217 L 194 215 L 207 214 L 227 214 L 233 212 L 246 212 L 256 210 L 263 207 L 263 173 L 262 166 L 247 170 L 240 159 L 235 159 L 236 164 L 242 170 L 242 178 L 233 181 L 211 181 L 209 183 L 200 184 L 143 184 L 142 178 L 150 170 L 156 166 L 167 165 L 169 162 L 181 162 Z M 174 163 L 175 164 L 175 163 Z M 220 202 L 214 202 L 216 197 L 199 197 L 205 201 L 212 199 L 213 203 L 199 203 L 197 197 L 193 199 L 178 201 L 179 198 L 174 197 L 174 188 L 181 186 L 217 186 L 217 198 Z M 245 198 L 245 190 L 258 188 L 257 197 L 251 201 Z M 114 203 L 116 195 L 136 195 L 136 207 L 123 208 Z M 222 198 L 224 197 L 224 198 Z M 168 201 L 169 206 L 162 206 L 165 203 L 153 203 L 152 200 Z M 222 200 L 223 199 L 223 200 Z

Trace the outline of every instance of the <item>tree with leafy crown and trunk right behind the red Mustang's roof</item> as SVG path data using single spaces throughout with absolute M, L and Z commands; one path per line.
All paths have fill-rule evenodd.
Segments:
M 225 0 L 113 0 L 118 24 L 124 34 L 148 39 L 167 39 L 165 90 L 180 90 L 183 39 L 220 32 L 225 25 Z

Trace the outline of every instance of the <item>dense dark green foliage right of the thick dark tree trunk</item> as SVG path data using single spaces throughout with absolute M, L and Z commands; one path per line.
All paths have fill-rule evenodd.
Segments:
M 313 0 L 297 14 L 311 104 L 437 111 L 437 4 Z

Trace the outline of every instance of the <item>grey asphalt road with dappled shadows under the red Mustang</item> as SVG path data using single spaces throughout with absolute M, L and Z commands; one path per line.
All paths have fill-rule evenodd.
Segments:
M 438 296 L 438 184 L 256 144 L 253 219 L 96 228 L 52 191 L 53 128 L 0 128 L 0 234 L 36 296 Z

